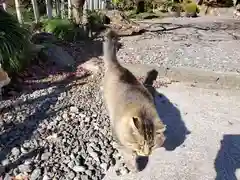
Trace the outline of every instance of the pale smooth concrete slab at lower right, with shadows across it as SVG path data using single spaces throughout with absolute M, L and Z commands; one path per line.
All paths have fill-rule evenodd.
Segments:
M 173 84 L 159 92 L 166 97 L 166 102 L 158 107 L 169 127 L 166 149 L 156 150 L 138 174 L 117 177 L 109 170 L 104 179 L 213 180 L 217 176 L 217 180 L 237 180 L 240 92 L 183 84 Z

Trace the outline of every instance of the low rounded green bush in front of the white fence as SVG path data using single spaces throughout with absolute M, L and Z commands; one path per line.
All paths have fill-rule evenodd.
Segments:
M 50 19 L 43 21 L 43 30 L 60 39 L 69 39 L 74 32 L 74 24 L 67 19 Z

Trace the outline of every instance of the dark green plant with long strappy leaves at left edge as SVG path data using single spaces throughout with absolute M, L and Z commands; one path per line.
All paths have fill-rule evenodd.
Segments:
M 6 71 L 18 72 L 28 63 L 29 58 L 25 56 L 30 45 L 30 33 L 13 15 L 2 9 L 0 17 L 0 61 Z

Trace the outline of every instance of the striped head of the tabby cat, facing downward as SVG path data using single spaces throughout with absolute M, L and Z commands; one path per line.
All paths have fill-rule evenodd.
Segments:
M 166 126 L 158 116 L 140 113 L 131 116 L 128 123 L 130 129 L 125 145 L 136 155 L 149 156 L 156 147 L 163 145 Z

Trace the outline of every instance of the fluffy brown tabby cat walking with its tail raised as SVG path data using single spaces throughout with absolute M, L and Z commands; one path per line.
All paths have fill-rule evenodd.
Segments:
M 111 129 L 123 149 L 135 156 L 149 156 L 163 145 L 166 125 L 158 116 L 151 93 L 118 62 L 116 42 L 116 32 L 107 30 L 103 96 Z

